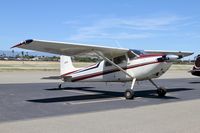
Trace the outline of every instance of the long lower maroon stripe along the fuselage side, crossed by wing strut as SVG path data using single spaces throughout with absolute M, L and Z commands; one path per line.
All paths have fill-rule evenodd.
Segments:
M 136 67 L 150 65 L 150 64 L 156 64 L 156 63 L 160 63 L 160 62 L 155 61 L 155 62 L 150 62 L 150 63 L 138 64 L 138 65 L 125 67 L 123 69 L 128 70 L 128 69 L 131 69 L 131 68 L 136 68 Z M 120 71 L 120 70 L 119 69 L 113 69 L 113 70 L 108 70 L 108 71 L 104 71 L 104 72 L 97 72 L 97 73 L 92 73 L 92 74 L 88 74 L 88 75 L 83 75 L 83 76 L 76 77 L 76 78 L 72 79 L 72 82 L 76 82 L 76 81 L 80 81 L 80 80 L 84 80 L 84 79 L 88 79 L 88 78 L 93 78 L 93 77 L 100 76 L 100 75 L 110 74 L 110 73 L 117 72 L 117 71 Z

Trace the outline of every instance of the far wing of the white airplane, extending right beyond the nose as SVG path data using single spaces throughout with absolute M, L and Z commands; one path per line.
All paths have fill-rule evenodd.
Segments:
M 189 51 L 162 51 L 162 50 L 144 50 L 145 53 L 148 54 L 166 54 L 166 55 L 177 55 L 179 57 L 186 57 L 193 54 L 193 52 Z

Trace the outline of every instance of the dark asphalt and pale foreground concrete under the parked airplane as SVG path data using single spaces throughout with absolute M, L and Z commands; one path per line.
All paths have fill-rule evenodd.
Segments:
M 30 73 L 22 75 L 23 78 L 29 75 L 24 83 L 13 74 L 15 83 L 0 84 L 2 132 L 194 133 L 200 130 L 200 79 L 185 72 L 167 73 L 156 80 L 167 88 L 164 98 L 157 97 L 148 81 L 139 82 L 135 86 L 135 100 L 123 98 L 124 88 L 130 84 L 65 83 L 58 90 L 58 80 L 37 82 L 30 80 Z

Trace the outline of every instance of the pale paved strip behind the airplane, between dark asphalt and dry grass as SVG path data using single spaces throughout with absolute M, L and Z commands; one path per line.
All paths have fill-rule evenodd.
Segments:
M 159 79 L 174 79 L 174 78 L 195 78 L 190 73 L 190 69 L 174 70 L 170 69 Z M 0 71 L 0 84 L 19 84 L 19 83 L 55 83 L 61 82 L 48 77 L 56 77 L 60 75 L 59 71 Z

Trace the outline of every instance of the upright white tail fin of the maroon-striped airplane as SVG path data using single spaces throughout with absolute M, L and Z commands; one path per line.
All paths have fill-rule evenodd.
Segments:
M 60 56 L 60 75 L 75 71 L 70 56 Z

